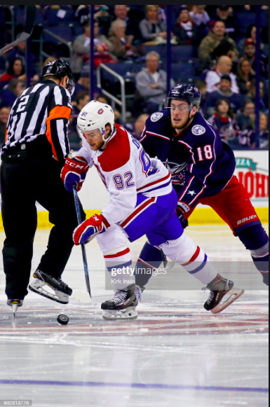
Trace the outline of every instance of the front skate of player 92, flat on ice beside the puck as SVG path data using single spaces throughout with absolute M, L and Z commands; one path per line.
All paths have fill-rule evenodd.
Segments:
M 137 319 L 137 305 L 142 301 L 141 287 L 135 284 L 115 292 L 112 300 L 102 303 L 102 317 L 107 321 L 116 319 Z

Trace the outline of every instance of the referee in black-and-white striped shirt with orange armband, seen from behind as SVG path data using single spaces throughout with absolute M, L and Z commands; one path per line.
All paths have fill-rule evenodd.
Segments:
M 1 193 L 6 295 L 13 310 L 22 306 L 27 296 L 37 226 L 36 202 L 48 210 L 54 227 L 29 289 L 63 304 L 72 295 L 61 275 L 72 252 L 72 233 L 78 223 L 73 195 L 65 189 L 60 172 L 70 153 L 67 126 L 73 92 L 74 76 L 67 62 L 48 62 L 41 83 L 18 97 L 8 119 L 6 144 L 1 151 Z M 85 219 L 82 208 L 81 212 Z M 46 285 L 55 293 L 50 294 Z

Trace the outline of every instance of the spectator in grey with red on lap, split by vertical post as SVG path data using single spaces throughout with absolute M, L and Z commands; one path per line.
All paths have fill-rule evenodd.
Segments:
M 76 76 L 81 72 L 83 64 L 89 64 L 90 58 L 90 25 L 88 20 L 83 22 L 84 34 L 76 37 L 73 43 L 73 54 L 70 59 L 72 71 Z M 95 64 L 100 62 L 112 62 L 112 55 L 109 50 L 113 50 L 112 43 L 110 43 L 105 36 L 99 34 L 98 22 L 95 22 Z

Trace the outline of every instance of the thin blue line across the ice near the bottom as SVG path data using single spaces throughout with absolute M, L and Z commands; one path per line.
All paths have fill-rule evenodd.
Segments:
M 144 383 L 105 383 L 105 382 L 56 382 L 50 380 L 0 380 L 0 385 L 44 385 L 44 386 L 80 386 L 80 387 L 133 387 L 137 389 L 168 389 L 168 390 L 204 390 L 211 392 L 250 392 L 269 393 L 263 387 L 221 387 L 221 386 L 186 386 L 158 385 Z

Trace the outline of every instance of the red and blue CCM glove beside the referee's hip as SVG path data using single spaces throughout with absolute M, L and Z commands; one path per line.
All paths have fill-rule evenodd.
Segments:
M 67 191 L 73 193 L 74 184 L 77 186 L 77 191 L 81 191 L 88 170 L 89 165 L 83 157 L 66 158 L 61 172 L 61 179 Z

